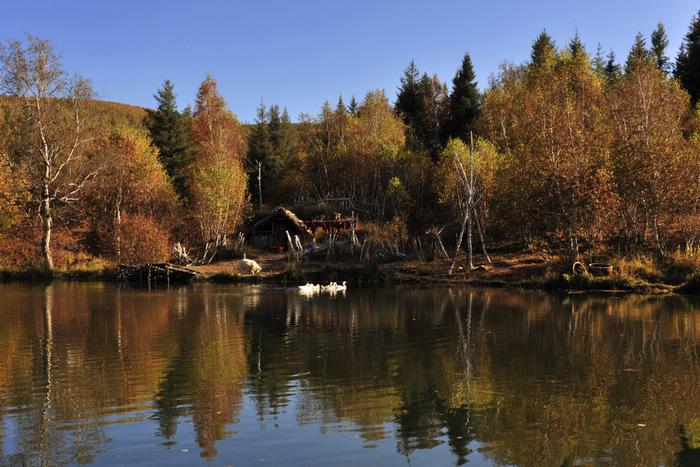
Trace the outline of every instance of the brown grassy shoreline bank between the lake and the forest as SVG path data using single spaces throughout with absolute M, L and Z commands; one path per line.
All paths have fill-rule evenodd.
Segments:
M 681 293 L 698 295 L 697 288 L 651 283 L 613 273 L 594 277 L 572 275 L 561 271 L 560 265 L 544 256 L 527 252 L 492 254 L 492 263 L 475 256 L 476 267 L 471 271 L 458 261 L 451 275 L 447 270 L 451 259 L 409 260 L 375 263 L 367 261 L 325 261 L 304 258 L 291 261 L 284 253 L 262 252 L 252 255 L 260 263 L 257 274 L 243 273 L 239 260 L 188 266 L 197 271 L 194 282 L 229 284 L 299 285 L 307 282 L 328 284 L 347 281 L 353 286 L 470 286 L 488 288 L 521 288 L 553 292 L 615 292 L 638 294 Z M 695 275 L 697 276 L 697 274 Z M 8 281 L 119 281 L 119 268 L 57 270 L 47 275 L 41 270 L 1 270 L 0 280 Z M 692 277 L 691 277 L 692 281 Z

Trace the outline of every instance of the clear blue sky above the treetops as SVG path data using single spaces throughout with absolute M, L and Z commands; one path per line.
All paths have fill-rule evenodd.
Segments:
M 210 73 L 252 123 L 261 98 L 293 120 L 341 94 L 359 102 L 384 89 L 393 102 L 411 60 L 451 85 L 465 52 L 483 89 L 503 61 L 527 61 L 543 29 L 557 46 L 578 30 L 589 53 L 600 43 L 624 62 L 636 34 L 648 46 L 661 21 L 675 62 L 699 9 L 697 0 L 15 0 L 2 7 L 0 35 L 50 39 L 102 99 L 142 107 L 155 107 L 165 79 L 180 108 L 192 105 Z

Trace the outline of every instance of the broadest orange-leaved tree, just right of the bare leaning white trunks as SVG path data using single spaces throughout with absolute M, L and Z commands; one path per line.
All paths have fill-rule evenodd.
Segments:
M 606 212 L 602 105 L 602 82 L 576 40 L 527 68 L 504 69 L 484 98 L 482 125 L 506 155 L 501 201 L 525 230 L 565 240 L 572 261 Z

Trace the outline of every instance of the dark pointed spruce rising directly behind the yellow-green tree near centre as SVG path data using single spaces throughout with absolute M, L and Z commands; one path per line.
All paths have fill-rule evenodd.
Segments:
M 472 122 L 479 115 L 481 96 L 469 53 L 464 54 L 462 66 L 452 79 L 452 92 L 449 97 L 449 121 L 447 133 L 452 138 L 467 141 Z

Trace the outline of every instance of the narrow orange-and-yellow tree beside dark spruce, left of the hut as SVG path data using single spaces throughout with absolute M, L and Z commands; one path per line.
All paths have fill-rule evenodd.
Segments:
M 191 126 L 196 147 L 189 167 L 193 217 L 203 242 L 230 233 L 247 207 L 245 133 L 210 75 L 197 92 Z

